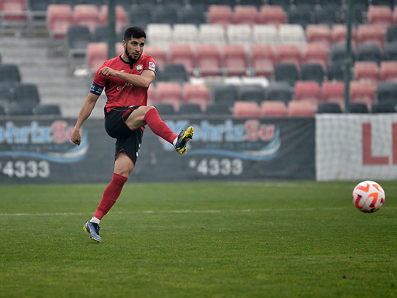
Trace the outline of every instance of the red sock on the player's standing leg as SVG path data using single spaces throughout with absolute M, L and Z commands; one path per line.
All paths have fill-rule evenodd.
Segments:
M 127 181 L 127 177 L 113 173 L 113 179 L 103 192 L 101 203 L 95 211 L 94 217 L 98 220 L 102 220 L 103 216 L 106 215 L 110 208 L 116 203 L 117 198 L 121 194 L 124 183 Z

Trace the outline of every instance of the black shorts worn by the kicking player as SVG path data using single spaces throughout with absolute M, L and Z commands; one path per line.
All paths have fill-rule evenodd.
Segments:
M 127 126 L 126 120 L 138 107 L 115 107 L 109 113 L 105 113 L 105 130 L 110 137 L 116 139 L 115 160 L 117 155 L 124 151 L 134 165 L 138 157 L 143 130 L 142 128 L 131 130 Z

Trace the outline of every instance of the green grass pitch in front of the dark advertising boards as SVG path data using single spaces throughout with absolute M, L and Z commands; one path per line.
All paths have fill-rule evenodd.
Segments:
M 396 297 L 397 183 L 355 209 L 357 182 L 0 185 L 0 297 Z

